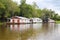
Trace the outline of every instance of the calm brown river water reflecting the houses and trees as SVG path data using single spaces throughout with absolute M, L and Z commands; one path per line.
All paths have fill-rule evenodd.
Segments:
M 1 25 L 0 40 L 60 40 L 60 24 Z

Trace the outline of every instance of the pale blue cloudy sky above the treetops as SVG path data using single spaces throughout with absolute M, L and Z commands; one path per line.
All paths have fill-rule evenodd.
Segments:
M 20 0 L 13 1 L 20 4 Z M 27 4 L 33 4 L 33 2 L 36 2 L 37 6 L 41 9 L 52 9 L 60 15 L 60 0 L 26 0 Z

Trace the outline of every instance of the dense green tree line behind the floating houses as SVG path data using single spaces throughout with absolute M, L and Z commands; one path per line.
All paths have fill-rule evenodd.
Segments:
M 12 0 L 0 0 L 0 21 L 6 21 L 12 16 L 23 16 L 27 18 L 48 16 L 54 20 L 60 20 L 60 16 L 51 9 L 40 9 L 34 2 L 33 5 L 27 4 L 26 0 L 21 0 L 17 5 Z

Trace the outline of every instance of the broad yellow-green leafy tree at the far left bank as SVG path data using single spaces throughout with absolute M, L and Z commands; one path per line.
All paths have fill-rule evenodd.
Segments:
M 4 21 L 7 17 L 19 12 L 19 7 L 12 0 L 0 0 L 0 19 Z

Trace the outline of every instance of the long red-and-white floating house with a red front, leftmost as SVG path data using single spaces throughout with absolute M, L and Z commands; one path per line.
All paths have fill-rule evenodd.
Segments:
M 10 19 L 10 23 L 30 23 L 30 20 L 25 17 L 14 16 Z

